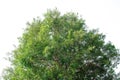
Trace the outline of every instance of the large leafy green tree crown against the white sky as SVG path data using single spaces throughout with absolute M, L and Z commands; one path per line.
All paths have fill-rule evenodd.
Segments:
M 27 24 L 5 80 L 113 80 L 118 50 L 98 30 L 69 12 L 48 10 Z

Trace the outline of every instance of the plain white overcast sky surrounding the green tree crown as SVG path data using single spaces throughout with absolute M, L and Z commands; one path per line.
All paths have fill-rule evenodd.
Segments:
M 26 23 L 54 8 L 79 13 L 90 29 L 98 28 L 120 49 L 120 0 L 0 0 L 0 74 L 10 65 L 5 57 L 18 45 Z

